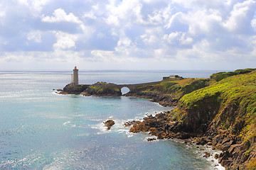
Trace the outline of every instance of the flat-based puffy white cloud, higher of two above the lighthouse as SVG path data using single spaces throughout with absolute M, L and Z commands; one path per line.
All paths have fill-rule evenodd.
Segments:
M 53 16 L 44 16 L 42 18 L 43 22 L 55 23 L 55 22 L 70 22 L 70 23 L 82 23 L 78 17 L 73 13 L 65 13 L 62 8 L 55 9 Z

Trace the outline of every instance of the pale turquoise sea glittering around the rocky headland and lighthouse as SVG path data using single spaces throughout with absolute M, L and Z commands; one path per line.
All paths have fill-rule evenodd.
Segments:
M 216 71 L 79 70 L 80 84 L 139 84 Z M 73 70 L 0 71 L 0 169 L 223 169 L 208 146 L 133 134 L 124 123 L 170 111 L 149 99 L 57 94 Z M 114 120 L 107 130 L 103 122 Z M 204 158 L 204 152 L 212 156 Z

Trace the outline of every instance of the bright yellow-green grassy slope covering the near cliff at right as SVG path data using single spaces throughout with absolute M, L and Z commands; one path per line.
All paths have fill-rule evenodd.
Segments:
M 196 111 L 202 107 L 207 108 L 205 101 L 219 106 L 214 119 L 221 120 L 222 128 L 233 130 L 235 135 L 241 135 L 245 140 L 256 135 L 256 72 L 228 77 L 211 86 L 186 94 L 181 98 L 177 110 Z M 235 127 L 235 125 L 239 126 L 238 123 L 242 128 Z

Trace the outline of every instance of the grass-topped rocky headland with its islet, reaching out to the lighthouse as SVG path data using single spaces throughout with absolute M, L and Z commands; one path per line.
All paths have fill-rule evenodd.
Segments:
M 65 86 L 63 94 L 121 96 L 113 84 Z M 159 139 L 178 138 L 223 151 L 215 155 L 225 169 L 256 169 L 256 71 L 220 72 L 209 79 L 165 79 L 125 96 L 151 98 L 174 110 L 124 123 L 130 132 Z M 207 155 L 206 155 L 207 157 Z

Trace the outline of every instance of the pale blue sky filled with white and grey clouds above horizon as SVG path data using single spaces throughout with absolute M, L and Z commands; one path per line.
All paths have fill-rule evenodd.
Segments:
M 3 69 L 256 67 L 255 0 L 1 0 Z

